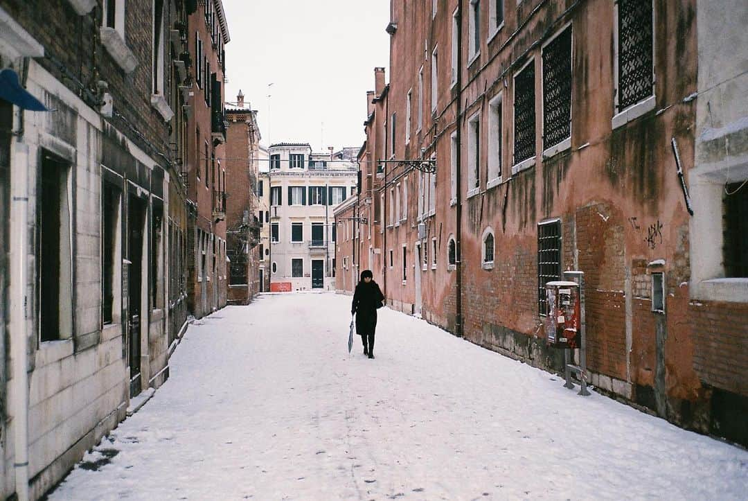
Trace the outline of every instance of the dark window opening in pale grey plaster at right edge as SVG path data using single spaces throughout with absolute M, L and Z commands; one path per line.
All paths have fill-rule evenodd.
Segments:
M 743 186 L 741 186 L 743 184 Z M 724 199 L 723 259 L 727 278 L 748 277 L 748 183 L 727 185 Z

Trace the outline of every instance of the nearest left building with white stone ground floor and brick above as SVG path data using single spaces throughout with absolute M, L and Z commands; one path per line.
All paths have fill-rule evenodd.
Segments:
M 194 7 L 0 1 L 0 497 L 41 497 L 168 377 Z

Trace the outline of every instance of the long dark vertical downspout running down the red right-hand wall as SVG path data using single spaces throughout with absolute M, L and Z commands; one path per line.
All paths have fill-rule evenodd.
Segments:
M 456 186 L 456 298 L 455 298 L 455 335 L 462 337 L 462 1 L 457 10 L 457 162 L 455 166 Z

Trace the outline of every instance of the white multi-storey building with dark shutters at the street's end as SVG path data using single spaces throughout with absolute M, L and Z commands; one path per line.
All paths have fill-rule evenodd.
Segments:
M 270 290 L 334 290 L 333 209 L 355 196 L 357 166 L 313 154 L 306 143 L 271 145 L 268 153 Z

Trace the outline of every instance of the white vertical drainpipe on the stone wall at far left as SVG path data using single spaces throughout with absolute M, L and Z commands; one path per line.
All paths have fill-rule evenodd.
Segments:
M 22 123 L 23 111 L 19 112 Z M 26 235 L 28 234 L 28 145 L 16 142 L 13 148 L 13 217 L 11 238 L 13 239 L 11 275 L 11 330 L 10 349 L 13 357 L 13 442 L 16 476 L 16 497 L 28 500 L 28 334 L 26 333 Z M 13 280 L 15 278 L 15 280 Z

